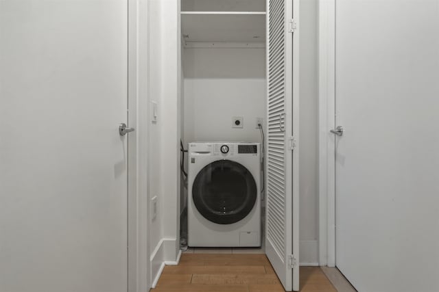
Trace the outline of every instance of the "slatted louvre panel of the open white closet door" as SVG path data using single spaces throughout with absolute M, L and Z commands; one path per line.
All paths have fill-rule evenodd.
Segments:
M 285 113 L 285 0 L 269 1 L 270 18 L 268 41 L 268 116 L 274 127 L 268 127 L 268 152 L 285 148 L 285 133 L 278 135 L 282 127 L 282 115 Z M 277 127 L 276 127 L 277 124 Z M 277 129 L 276 129 L 277 128 Z M 278 131 L 279 130 L 279 131 Z M 267 218 L 273 230 L 268 230 L 268 240 L 281 258 L 285 258 L 285 208 L 278 209 L 276 204 L 285 206 L 285 155 L 268 155 L 268 207 Z M 272 173 L 270 173 L 272 172 Z

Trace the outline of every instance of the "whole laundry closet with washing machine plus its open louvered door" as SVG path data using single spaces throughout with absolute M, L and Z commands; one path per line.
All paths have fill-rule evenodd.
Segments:
M 180 248 L 265 254 L 286 291 L 298 290 L 293 4 L 181 0 L 178 31 Z

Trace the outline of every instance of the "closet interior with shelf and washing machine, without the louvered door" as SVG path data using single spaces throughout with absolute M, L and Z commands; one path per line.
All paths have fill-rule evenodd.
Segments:
M 180 18 L 180 248 L 265 253 L 265 0 L 182 0 Z

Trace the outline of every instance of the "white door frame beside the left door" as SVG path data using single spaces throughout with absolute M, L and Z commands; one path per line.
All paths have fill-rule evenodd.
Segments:
M 149 291 L 147 0 L 128 0 L 128 292 Z

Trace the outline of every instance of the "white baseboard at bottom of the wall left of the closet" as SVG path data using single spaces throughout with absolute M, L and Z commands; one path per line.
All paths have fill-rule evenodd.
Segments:
M 151 254 L 152 288 L 156 287 L 165 265 L 178 265 L 181 250 L 177 250 L 175 238 L 163 238 L 158 241 L 156 248 Z

